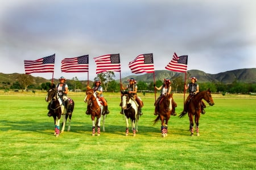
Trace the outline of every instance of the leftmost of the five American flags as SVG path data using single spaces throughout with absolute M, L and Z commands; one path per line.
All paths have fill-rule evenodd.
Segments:
M 55 54 L 52 56 L 36 59 L 24 60 L 25 73 L 53 73 L 54 71 Z

